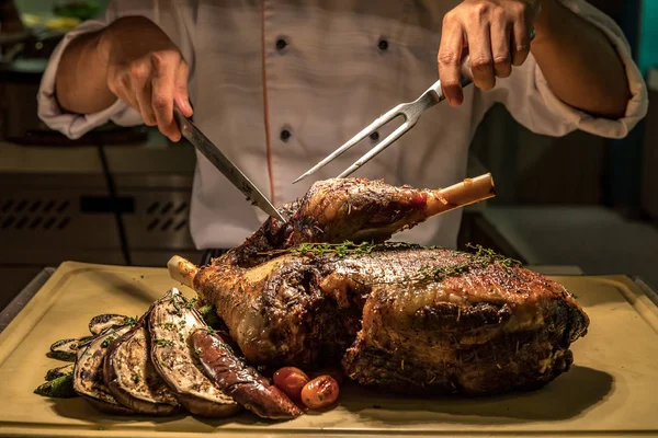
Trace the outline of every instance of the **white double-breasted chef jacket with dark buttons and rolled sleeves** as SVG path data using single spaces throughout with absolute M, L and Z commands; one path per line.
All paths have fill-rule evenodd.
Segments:
M 462 106 L 444 103 L 432 108 L 354 175 L 434 188 L 462 181 L 476 127 L 497 102 L 538 134 L 563 136 L 582 129 L 610 138 L 626 136 L 647 112 L 646 87 L 628 44 L 615 23 L 592 5 L 563 2 L 601 28 L 623 59 L 632 92 L 624 117 L 597 118 L 558 100 L 531 55 L 510 78 L 499 79 L 492 91 L 469 87 Z M 292 185 L 296 176 L 383 112 L 415 100 L 436 80 L 442 19 L 456 4 L 441 0 L 115 0 L 104 20 L 80 24 L 54 51 L 38 92 L 38 115 L 70 138 L 107 120 L 141 124 L 139 114 L 122 101 L 95 114 L 67 114 L 57 105 L 54 82 L 71 39 L 117 16 L 145 15 L 163 28 L 191 66 L 195 124 L 281 206 L 304 195 L 313 181 L 338 175 L 375 141 L 365 140 L 313 178 Z M 383 128 L 379 140 L 392 129 Z M 197 154 L 190 222 L 198 249 L 235 246 L 265 218 Z M 454 247 L 460 221 L 461 211 L 455 210 L 397 238 Z

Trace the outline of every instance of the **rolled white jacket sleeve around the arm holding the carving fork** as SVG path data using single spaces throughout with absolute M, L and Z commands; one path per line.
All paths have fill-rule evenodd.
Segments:
M 532 54 L 494 90 L 479 93 L 476 99 L 483 102 L 478 106 L 486 110 L 494 103 L 502 103 L 517 122 L 536 134 L 558 137 L 578 129 L 605 138 L 624 138 L 645 117 L 648 108 L 646 84 L 633 61 L 628 42 L 614 21 L 591 4 L 582 0 L 559 1 L 600 28 L 620 55 L 631 90 L 624 116 L 619 119 L 595 117 L 566 104 L 551 90 Z

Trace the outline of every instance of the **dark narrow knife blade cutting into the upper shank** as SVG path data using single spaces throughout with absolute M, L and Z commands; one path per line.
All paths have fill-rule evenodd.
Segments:
M 196 149 L 226 176 L 252 205 L 259 207 L 268 215 L 285 222 L 285 218 L 258 189 L 258 187 L 238 169 L 222 151 L 217 148 L 192 122 L 185 117 L 178 107 L 173 108 L 173 117 L 181 129 L 183 137 L 188 139 Z

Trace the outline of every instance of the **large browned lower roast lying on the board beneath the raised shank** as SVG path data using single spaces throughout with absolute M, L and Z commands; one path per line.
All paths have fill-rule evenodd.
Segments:
M 548 381 L 568 369 L 569 345 L 589 323 L 561 286 L 504 258 L 400 244 L 280 256 L 230 274 L 207 267 L 195 285 L 252 364 L 343 359 L 352 379 L 408 392 Z

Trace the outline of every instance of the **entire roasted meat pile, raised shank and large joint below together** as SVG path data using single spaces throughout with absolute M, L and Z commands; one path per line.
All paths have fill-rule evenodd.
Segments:
M 541 387 L 568 370 L 589 325 L 564 287 L 485 249 L 376 244 L 487 188 L 464 184 L 319 182 L 286 223 L 269 219 L 211 265 L 174 257 L 170 270 L 216 307 L 252 365 L 341 362 L 360 383 L 423 394 Z

